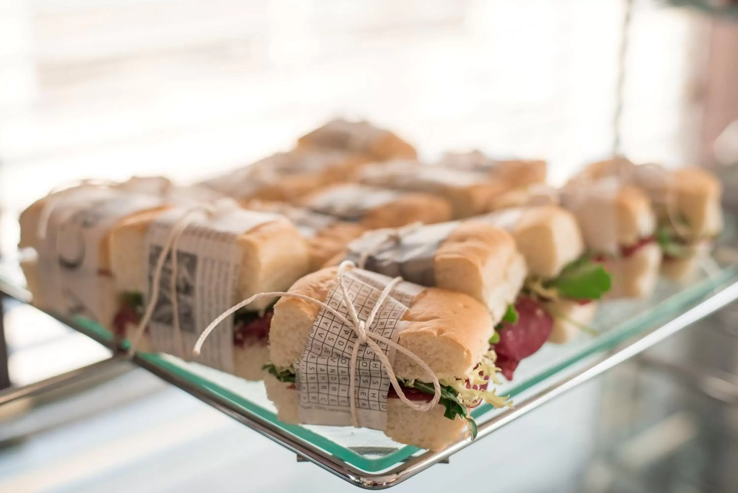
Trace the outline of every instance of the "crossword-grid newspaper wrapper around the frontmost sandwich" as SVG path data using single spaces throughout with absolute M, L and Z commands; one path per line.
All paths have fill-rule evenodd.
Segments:
M 378 273 L 354 269 L 345 273 L 349 300 L 343 299 L 338 282 L 328 293 L 325 303 L 348 319 L 345 302 L 356 307 L 359 319 L 366 321 L 374 302 L 392 279 Z M 397 341 L 407 322 L 402 321 L 413 298 L 423 288 L 410 282 L 400 282 L 377 313 L 368 330 Z M 321 308 L 311 327 L 303 354 L 297 364 L 297 395 L 300 421 L 305 424 L 351 426 L 349 399 L 351 352 L 356 333 L 334 315 Z M 379 344 L 390 363 L 395 350 Z M 382 363 L 367 344 L 359 347 L 356 358 L 356 418 L 359 426 L 373 429 L 387 427 L 387 391 L 390 379 Z

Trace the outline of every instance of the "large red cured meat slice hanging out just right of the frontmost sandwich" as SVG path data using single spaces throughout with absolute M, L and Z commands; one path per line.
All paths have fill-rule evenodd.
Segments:
M 512 380 L 520 360 L 536 353 L 554 329 L 554 319 L 541 304 L 528 296 L 518 296 L 515 302 L 517 322 L 503 322 L 498 330 L 500 341 L 494 344 L 497 353 L 497 367 L 503 375 Z

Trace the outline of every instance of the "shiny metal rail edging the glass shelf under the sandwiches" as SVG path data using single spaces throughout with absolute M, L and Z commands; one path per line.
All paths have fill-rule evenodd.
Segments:
M 16 298 L 21 299 L 21 301 L 27 301 L 27 297 L 24 296 L 22 290 L 18 290 L 18 288 L 13 286 L 8 287 L 6 283 L 1 280 L 0 292 L 6 293 L 10 296 L 15 296 L 17 293 L 20 294 L 20 296 L 15 296 Z M 514 409 L 502 412 L 490 421 L 480 425 L 477 440 L 491 434 L 495 430 L 500 429 L 517 418 L 522 417 L 528 412 L 541 407 L 543 404 L 548 403 L 568 390 L 572 390 L 574 387 L 583 384 L 597 375 L 601 375 L 601 373 L 610 370 L 623 361 L 642 353 L 654 344 L 658 344 L 658 342 L 667 339 L 669 336 L 672 336 L 684 327 L 687 327 L 688 325 L 703 319 L 705 316 L 720 310 L 720 308 L 728 305 L 736 299 L 738 299 L 738 282 L 733 282 L 726 285 L 723 290 L 720 290 L 720 292 L 714 296 L 700 302 L 698 305 L 675 317 L 675 319 L 672 319 L 670 322 L 663 324 L 661 327 L 655 327 L 655 329 L 650 330 L 641 336 L 630 339 L 627 343 L 622 344 L 615 350 L 604 353 L 603 356 L 597 358 L 596 361 L 587 365 L 587 367 L 577 370 L 576 373 L 569 375 L 562 381 L 556 382 L 556 384 L 551 384 L 550 387 L 537 392 L 537 394 L 526 399 L 523 403 L 519 403 Z M 55 318 L 100 342 L 100 344 L 105 344 L 106 346 L 111 347 L 110 341 L 100 339 L 99 336 L 94 333 L 90 333 L 89 330 L 86 330 L 84 327 L 80 327 L 78 324 L 75 324 L 74 321 L 65 319 L 61 316 L 55 316 Z M 401 483 L 401 481 L 407 480 L 409 477 L 413 477 L 418 474 L 418 472 L 424 471 L 424 469 L 429 468 L 433 464 L 448 459 L 451 455 L 466 448 L 466 446 L 469 446 L 472 443 L 472 441 L 467 438 L 440 451 L 424 452 L 417 457 L 410 458 L 410 460 L 407 460 L 405 463 L 395 466 L 387 472 L 368 473 L 356 469 L 354 466 L 345 463 L 343 460 L 340 460 L 333 455 L 327 454 L 323 449 L 318 448 L 312 443 L 304 441 L 296 436 L 285 434 L 278 426 L 272 424 L 270 421 L 267 421 L 258 415 L 252 415 L 250 412 L 241 409 L 241 407 L 229 401 L 227 398 L 215 395 L 206 389 L 198 387 L 196 384 L 186 381 L 162 367 L 156 366 L 156 364 L 151 363 L 145 358 L 141 358 L 136 355 L 131 358 L 131 362 L 145 370 L 148 370 L 159 378 L 168 381 L 170 384 L 179 387 L 185 392 L 190 393 L 190 395 L 199 398 L 211 407 L 215 407 L 215 409 L 224 412 L 224 414 L 229 415 L 239 423 L 249 426 L 249 428 L 254 429 L 261 435 L 280 443 L 280 445 L 317 464 L 326 471 L 365 489 L 385 489 Z M 94 365 L 91 365 L 91 367 L 92 366 Z M 0 404 L 2 404 L 2 401 L 0 401 Z

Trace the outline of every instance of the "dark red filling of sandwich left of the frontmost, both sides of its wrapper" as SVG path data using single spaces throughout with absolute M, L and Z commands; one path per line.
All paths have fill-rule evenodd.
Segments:
M 274 304 L 263 311 L 238 310 L 233 314 L 233 346 L 252 347 L 266 345 L 269 341 L 269 326 L 272 322 Z M 114 336 L 125 338 L 129 325 L 137 326 L 145 310 L 142 293 L 123 293 L 120 308 L 113 319 Z M 144 332 L 148 332 L 145 327 Z

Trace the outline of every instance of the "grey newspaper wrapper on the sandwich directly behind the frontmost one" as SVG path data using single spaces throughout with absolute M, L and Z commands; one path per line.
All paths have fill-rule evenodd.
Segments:
M 396 229 L 370 231 L 348 244 L 346 259 L 359 265 L 365 253 L 364 268 L 385 276 L 401 276 L 408 282 L 435 286 L 435 252 L 456 228 L 458 222 L 441 222 L 409 228 L 397 236 Z

